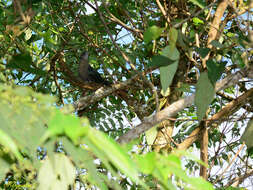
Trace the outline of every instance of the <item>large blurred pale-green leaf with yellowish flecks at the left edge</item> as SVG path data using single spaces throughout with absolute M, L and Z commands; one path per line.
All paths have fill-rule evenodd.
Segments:
M 28 87 L 11 88 L 0 85 L 1 138 L 7 138 L 4 142 L 8 144 L 4 146 L 10 146 L 9 149 L 14 151 L 17 158 L 17 149 L 36 157 L 34 151 L 39 146 L 41 135 L 46 131 L 45 123 L 51 117 L 48 109 L 52 101 L 50 98 L 34 93 Z

